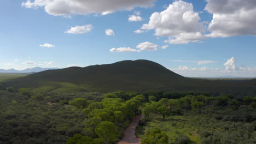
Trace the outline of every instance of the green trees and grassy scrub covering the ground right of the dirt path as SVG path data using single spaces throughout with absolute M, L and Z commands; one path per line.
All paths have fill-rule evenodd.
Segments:
M 168 143 L 172 144 L 255 143 L 254 103 L 252 97 L 239 101 L 234 99 L 234 95 L 224 94 L 218 97 L 187 95 L 179 99 L 150 101 L 142 110 L 144 118 L 137 127 L 137 136 L 142 137 L 142 143 L 150 144 L 150 141 L 157 140 L 150 136 L 152 128 L 161 128 L 159 131 L 164 131 Z

